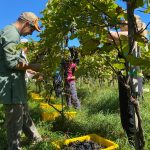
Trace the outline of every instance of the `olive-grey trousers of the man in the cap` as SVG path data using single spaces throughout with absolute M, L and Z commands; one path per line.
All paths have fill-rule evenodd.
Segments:
M 28 112 L 27 104 L 4 105 L 8 150 L 19 150 L 20 135 L 24 134 L 31 140 L 41 138 Z

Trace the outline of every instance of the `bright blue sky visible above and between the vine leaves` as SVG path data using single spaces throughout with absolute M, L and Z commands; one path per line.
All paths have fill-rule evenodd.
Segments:
M 1 0 L 0 29 L 8 24 L 14 23 L 22 12 L 31 11 L 38 17 L 42 17 L 40 12 L 45 9 L 47 1 L 48 0 Z M 122 0 L 117 0 L 117 3 L 123 6 L 123 8 L 126 8 L 126 3 L 122 2 Z M 138 10 L 136 10 L 135 13 L 141 16 L 142 21 L 146 24 L 150 21 L 150 14 L 146 15 Z M 36 37 L 37 35 L 38 32 L 34 32 L 32 36 L 30 35 L 31 37 L 28 36 L 27 38 L 39 40 L 39 38 Z M 69 44 L 72 45 L 74 42 L 79 45 L 77 40 L 70 41 Z

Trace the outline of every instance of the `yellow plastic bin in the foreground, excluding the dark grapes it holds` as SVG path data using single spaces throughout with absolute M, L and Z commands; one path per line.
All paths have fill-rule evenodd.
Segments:
M 52 142 L 53 146 L 56 148 L 56 150 L 61 150 L 62 146 L 67 146 L 72 142 L 76 142 L 76 141 L 88 141 L 91 140 L 99 145 L 105 146 L 106 148 L 102 148 L 101 150 L 116 150 L 119 146 L 118 144 L 105 139 L 103 137 L 98 136 L 97 134 L 88 134 L 85 136 L 81 136 L 81 137 L 77 137 L 77 138 L 72 138 L 72 139 L 66 139 L 63 141 L 55 141 Z

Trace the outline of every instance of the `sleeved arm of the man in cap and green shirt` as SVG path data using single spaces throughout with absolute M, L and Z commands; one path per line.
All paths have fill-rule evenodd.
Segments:
M 27 70 L 32 69 L 39 71 L 40 64 L 27 64 L 24 58 L 21 57 L 20 51 L 17 49 L 19 42 L 19 34 L 16 34 L 13 30 L 4 31 L 1 35 L 1 41 L 4 53 L 4 64 L 9 69 L 14 70 Z

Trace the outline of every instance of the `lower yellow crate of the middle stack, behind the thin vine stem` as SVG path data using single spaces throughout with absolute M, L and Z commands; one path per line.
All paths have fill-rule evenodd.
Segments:
M 64 112 L 64 114 L 68 119 L 72 119 L 73 117 L 75 117 L 76 112 Z M 42 114 L 41 114 L 42 120 L 44 120 L 44 121 L 55 120 L 60 115 L 61 114 L 57 111 L 56 112 L 42 112 Z

